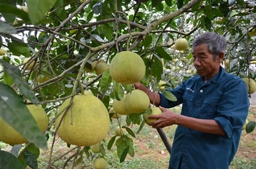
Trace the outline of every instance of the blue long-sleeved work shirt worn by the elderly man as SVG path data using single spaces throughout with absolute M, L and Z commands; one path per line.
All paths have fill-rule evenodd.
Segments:
M 249 111 L 246 84 L 238 76 L 225 72 L 206 83 L 196 75 L 170 90 L 177 101 L 161 94 L 160 106 L 171 108 L 182 103 L 181 115 L 214 119 L 226 136 L 208 134 L 178 126 L 175 131 L 169 168 L 226 169 L 233 160 Z

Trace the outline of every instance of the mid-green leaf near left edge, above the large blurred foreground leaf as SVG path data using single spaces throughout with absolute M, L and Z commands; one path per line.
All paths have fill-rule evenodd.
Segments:
M 25 57 L 30 57 L 30 49 L 26 43 L 18 42 L 18 41 L 12 41 L 8 44 L 9 50 L 18 57 L 22 54 Z

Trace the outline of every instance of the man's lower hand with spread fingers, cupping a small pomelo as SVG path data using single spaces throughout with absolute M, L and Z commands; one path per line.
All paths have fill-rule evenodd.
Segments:
M 148 116 L 148 118 L 158 118 L 155 122 L 149 123 L 150 126 L 153 128 L 164 128 L 166 126 L 170 126 L 175 124 L 175 117 L 177 117 L 178 114 L 175 114 L 175 112 L 159 107 L 163 113 L 161 115 L 151 115 Z

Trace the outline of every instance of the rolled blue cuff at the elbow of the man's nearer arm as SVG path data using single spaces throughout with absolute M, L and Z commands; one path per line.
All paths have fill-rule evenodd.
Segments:
M 214 118 L 214 120 L 220 125 L 220 127 L 226 133 L 224 138 L 230 139 L 233 136 L 234 131 L 233 131 L 233 127 L 232 127 L 231 123 L 229 122 L 229 120 L 227 120 L 223 117 L 216 117 L 216 118 Z

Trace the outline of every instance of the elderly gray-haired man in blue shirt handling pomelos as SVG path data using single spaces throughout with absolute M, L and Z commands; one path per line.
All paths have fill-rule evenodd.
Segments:
M 193 42 L 197 75 L 171 91 L 177 101 L 163 93 L 153 93 L 141 83 L 134 84 L 149 95 L 162 115 L 150 125 L 154 128 L 177 124 L 169 168 L 229 168 L 249 111 L 246 84 L 225 72 L 223 61 L 227 42 L 217 33 L 203 33 Z M 181 114 L 166 108 L 182 103 Z

